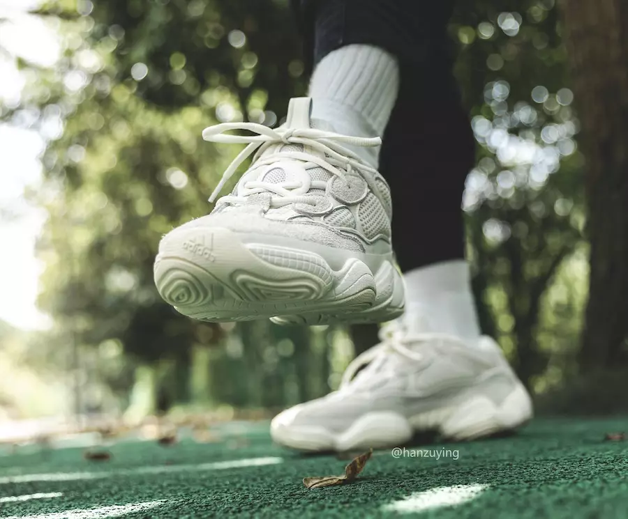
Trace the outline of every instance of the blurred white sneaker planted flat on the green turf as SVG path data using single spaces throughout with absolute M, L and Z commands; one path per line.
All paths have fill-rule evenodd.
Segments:
M 341 389 L 276 416 L 275 442 L 304 451 L 351 451 L 393 447 L 420 431 L 472 440 L 532 417 L 530 396 L 493 339 L 470 346 L 395 322 L 382 330 L 382 340 L 354 360 Z

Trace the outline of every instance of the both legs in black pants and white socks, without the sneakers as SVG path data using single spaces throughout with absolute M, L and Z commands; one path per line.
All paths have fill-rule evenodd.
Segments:
M 301 17 L 309 21 L 313 117 L 349 134 L 383 133 L 379 167 L 391 187 L 407 313 L 474 343 L 479 327 L 461 211 L 474 139 L 452 72 L 446 33 L 452 6 L 305 0 Z

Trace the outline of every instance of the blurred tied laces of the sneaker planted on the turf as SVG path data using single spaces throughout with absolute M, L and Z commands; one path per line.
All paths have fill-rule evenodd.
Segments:
M 382 327 L 380 330 L 380 340 L 382 341 L 377 346 L 373 346 L 366 350 L 364 353 L 358 355 L 350 362 L 349 366 L 343 373 L 341 385 L 339 390 L 347 390 L 351 387 L 351 383 L 356 380 L 357 372 L 370 364 L 375 369 L 378 365 L 384 362 L 389 355 L 401 355 L 411 361 L 420 361 L 423 358 L 420 352 L 417 352 L 411 348 L 408 348 L 408 344 L 424 343 L 428 341 L 452 341 L 460 344 L 464 342 L 454 335 L 443 333 L 410 333 L 405 326 L 393 321 L 388 325 Z M 365 370 L 366 371 L 366 368 Z M 361 374 L 361 373 L 359 373 Z

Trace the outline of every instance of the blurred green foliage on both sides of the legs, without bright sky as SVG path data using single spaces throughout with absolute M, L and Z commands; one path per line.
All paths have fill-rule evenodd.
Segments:
M 203 142 L 203 127 L 274 125 L 304 91 L 287 2 L 93 7 L 47 6 L 65 57 L 52 70 L 22 63 L 37 81 L 1 112 L 20 123 L 33 111 L 31 127 L 50 139 L 45 189 L 33 194 L 50 214 L 41 307 L 99 356 L 124 348 L 105 355 L 99 375 L 115 394 L 140 364 L 158 366 L 173 403 L 281 407 L 324 394 L 351 356 L 343 330 L 193 323 L 152 280 L 160 236 L 209 212 L 236 153 Z M 585 284 L 574 254 L 583 161 L 560 22 L 553 0 L 475 0 L 460 3 L 449 29 L 479 149 L 463 208 L 482 325 L 544 391 L 573 371 Z

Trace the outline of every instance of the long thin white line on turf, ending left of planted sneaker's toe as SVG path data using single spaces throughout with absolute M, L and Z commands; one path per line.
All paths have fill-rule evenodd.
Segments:
M 245 458 L 243 460 L 216 461 L 200 465 L 163 465 L 137 467 L 103 472 L 51 472 L 50 474 L 22 474 L 0 477 L 0 485 L 8 483 L 31 483 L 33 481 L 77 481 L 80 479 L 103 479 L 112 476 L 135 476 L 137 474 L 166 474 L 167 472 L 185 472 L 192 470 L 225 470 L 241 467 L 259 467 L 283 463 L 283 458 L 267 456 L 265 458 Z

